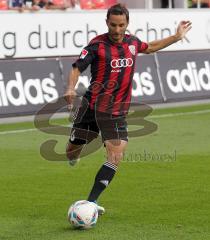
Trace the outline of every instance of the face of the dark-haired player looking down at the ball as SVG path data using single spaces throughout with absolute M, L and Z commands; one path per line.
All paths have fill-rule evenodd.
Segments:
M 122 42 L 128 26 L 126 15 L 110 15 L 106 20 L 109 37 L 114 42 Z

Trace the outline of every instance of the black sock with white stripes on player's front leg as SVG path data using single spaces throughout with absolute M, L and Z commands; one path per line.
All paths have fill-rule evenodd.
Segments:
M 103 164 L 95 177 L 95 182 L 89 194 L 88 201 L 94 202 L 98 199 L 99 195 L 110 184 L 116 170 L 117 166 L 113 163 L 105 162 Z

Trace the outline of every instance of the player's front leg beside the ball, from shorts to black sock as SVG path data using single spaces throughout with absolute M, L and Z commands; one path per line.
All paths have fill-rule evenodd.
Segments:
M 128 133 L 125 118 L 99 122 L 102 138 L 104 139 L 107 158 L 95 177 L 93 188 L 89 194 L 89 201 L 97 201 L 100 194 L 112 181 L 120 161 L 123 159 L 127 146 Z

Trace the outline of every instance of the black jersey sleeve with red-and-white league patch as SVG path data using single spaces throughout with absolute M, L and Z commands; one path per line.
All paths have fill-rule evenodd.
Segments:
M 96 57 L 95 49 L 97 49 L 96 44 L 91 44 L 82 49 L 79 58 L 72 64 L 73 67 L 78 67 L 80 72 L 85 71 L 85 69 L 91 64 Z

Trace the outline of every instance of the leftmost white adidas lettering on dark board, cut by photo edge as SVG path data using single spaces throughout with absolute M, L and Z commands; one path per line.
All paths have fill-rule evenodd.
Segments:
M 57 98 L 56 83 L 50 77 L 24 80 L 21 72 L 15 72 L 15 78 L 6 81 L 0 72 L 0 107 L 38 105 Z

